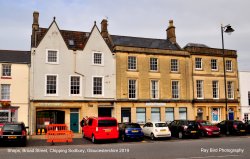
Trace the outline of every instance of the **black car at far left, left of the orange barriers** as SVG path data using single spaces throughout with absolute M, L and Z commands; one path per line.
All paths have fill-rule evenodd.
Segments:
M 17 142 L 22 146 L 27 144 L 27 129 L 23 122 L 5 123 L 0 131 L 0 139 L 3 144 Z

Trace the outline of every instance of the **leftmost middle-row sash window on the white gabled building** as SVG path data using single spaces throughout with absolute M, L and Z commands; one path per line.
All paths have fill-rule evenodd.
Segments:
M 47 75 L 46 79 L 46 93 L 47 94 L 57 94 L 57 76 Z

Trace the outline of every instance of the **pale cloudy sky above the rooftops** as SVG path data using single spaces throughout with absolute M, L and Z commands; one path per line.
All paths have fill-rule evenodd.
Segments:
M 56 17 L 60 29 L 90 32 L 108 19 L 112 35 L 165 39 L 169 20 L 176 39 L 222 48 L 221 25 L 235 30 L 224 33 L 225 49 L 237 50 L 239 71 L 250 71 L 249 0 L 0 0 L 0 49 L 30 50 L 33 12 L 40 27 Z

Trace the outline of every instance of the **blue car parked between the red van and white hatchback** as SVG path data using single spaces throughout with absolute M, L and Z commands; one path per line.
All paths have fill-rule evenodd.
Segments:
M 142 128 L 137 123 L 119 123 L 119 136 L 122 141 L 127 139 L 139 139 L 143 140 L 144 133 Z

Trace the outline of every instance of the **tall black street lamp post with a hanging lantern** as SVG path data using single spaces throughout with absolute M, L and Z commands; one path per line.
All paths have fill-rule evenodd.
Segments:
M 225 49 L 224 49 L 224 32 L 232 33 L 234 29 L 230 25 L 223 26 L 221 25 L 221 39 L 222 39 L 222 57 L 224 65 L 224 93 L 225 93 L 225 104 L 226 104 L 226 120 L 228 120 L 228 108 L 227 108 L 227 76 L 226 76 L 226 63 L 225 63 Z

